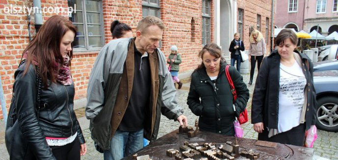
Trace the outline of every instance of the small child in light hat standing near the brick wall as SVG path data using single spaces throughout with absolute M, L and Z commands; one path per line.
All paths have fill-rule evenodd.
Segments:
M 167 63 L 169 64 L 169 71 L 171 73 L 171 78 L 174 81 L 174 86 L 176 87 L 175 82 L 178 84 L 178 89 L 182 88 L 183 83 L 178 79 L 179 64 L 182 62 L 181 55 L 177 53 L 177 46 L 170 47 L 171 53 L 168 57 Z

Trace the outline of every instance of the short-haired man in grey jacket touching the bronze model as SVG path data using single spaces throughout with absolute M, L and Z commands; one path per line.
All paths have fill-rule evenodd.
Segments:
M 147 16 L 135 38 L 117 39 L 99 52 L 87 89 L 85 115 L 96 149 L 120 160 L 156 140 L 161 113 L 187 126 L 160 49 L 164 24 Z

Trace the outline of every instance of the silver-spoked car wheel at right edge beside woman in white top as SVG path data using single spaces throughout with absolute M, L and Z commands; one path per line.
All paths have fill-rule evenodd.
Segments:
M 316 126 L 325 131 L 338 131 L 338 97 L 326 96 L 317 100 Z

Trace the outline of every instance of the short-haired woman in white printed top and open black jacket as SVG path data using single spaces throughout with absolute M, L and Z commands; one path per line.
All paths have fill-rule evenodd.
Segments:
M 315 124 L 313 65 L 298 53 L 297 36 L 283 29 L 278 50 L 263 59 L 252 101 L 252 123 L 259 140 L 304 145 L 305 131 Z

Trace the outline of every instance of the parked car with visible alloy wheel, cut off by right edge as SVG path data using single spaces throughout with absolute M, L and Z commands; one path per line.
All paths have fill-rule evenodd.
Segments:
M 338 70 L 313 72 L 316 90 L 316 126 L 325 131 L 338 131 Z

